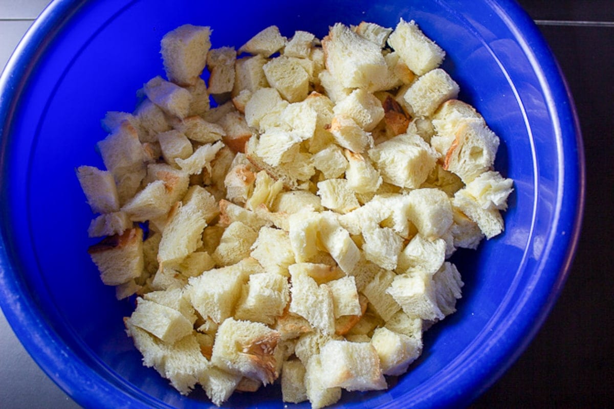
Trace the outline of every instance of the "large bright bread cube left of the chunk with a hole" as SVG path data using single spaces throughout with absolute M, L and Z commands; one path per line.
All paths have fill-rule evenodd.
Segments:
M 368 150 L 384 182 L 402 188 L 418 188 L 437 161 L 437 151 L 418 135 L 402 134 Z

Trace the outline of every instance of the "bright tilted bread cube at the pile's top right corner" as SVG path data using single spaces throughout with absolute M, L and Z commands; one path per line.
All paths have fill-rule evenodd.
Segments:
M 415 21 L 402 18 L 388 37 L 388 44 L 397 52 L 411 71 L 424 75 L 440 66 L 445 52 L 424 35 Z

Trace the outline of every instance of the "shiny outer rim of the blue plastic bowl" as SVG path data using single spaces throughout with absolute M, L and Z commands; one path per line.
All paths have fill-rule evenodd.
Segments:
M 549 254 L 548 270 L 553 274 L 553 285 L 540 292 L 539 295 L 545 299 L 545 302 L 540 304 L 537 310 L 530 311 L 532 319 L 524 327 L 526 335 L 522 339 L 510 338 L 507 345 L 503 345 L 496 351 L 486 351 L 481 361 L 488 363 L 489 365 L 484 365 L 488 368 L 476 380 L 463 381 L 466 388 L 461 395 L 467 401 L 475 399 L 486 391 L 516 361 L 550 313 L 567 279 L 577 249 L 585 203 L 585 157 L 580 124 L 573 105 L 573 97 L 556 58 L 534 21 L 515 1 L 485 0 L 485 2 L 498 11 L 499 17 L 508 19 L 506 22 L 508 28 L 515 28 L 515 39 L 519 41 L 524 53 L 530 58 L 532 67 L 539 73 L 542 88 L 550 91 L 548 110 L 560 113 L 554 117 L 565 121 L 559 124 L 557 137 L 565 142 L 564 157 L 575 158 L 576 167 L 573 169 L 575 172 L 572 170 L 566 173 L 575 183 L 559 186 L 557 191 L 559 199 L 559 209 L 556 213 L 557 226 L 567 229 L 567 234 L 562 238 L 566 240 L 565 245 Z M 64 24 L 86 3 L 87 0 L 52 1 L 28 29 L 0 76 L 0 199 L 4 199 L 7 194 L 1 177 L 6 166 L 2 158 L 4 158 L 9 140 L 12 114 L 17 109 L 20 94 L 26 87 L 37 60 L 45 53 L 47 45 L 63 30 Z M 563 106 L 554 104 L 554 101 L 561 99 L 569 101 L 569 104 Z M 564 178 L 561 177 L 561 179 Z M 0 200 L 0 202 L 4 201 Z M 573 204 L 573 211 L 562 213 L 560 205 L 563 202 Z M 5 208 L 2 208 L 0 212 L 0 307 L 21 344 L 47 376 L 77 403 L 95 407 L 125 405 L 125 396 L 117 394 L 117 389 L 109 385 L 107 378 L 102 377 L 82 362 L 68 346 L 63 344 L 61 337 L 56 334 L 53 327 L 38 315 L 39 308 L 36 302 L 28 297 L 27 286 L 17 278 L 18 268 L 10 263 L 11 243 L 7 233 L 10 221 L 7 220 Z M 549 231 L 549 235 L 552 235 L 552 231 Z M 556 273 L 553 273 L 555 271 Z M 503 332 L 499 334 L 500 337 L 502 335 L 504 335 Z M 60 373 L 67 370 L 72 373 L 70 377 L 60 376 Z M 87 388 L 84 388 L 81 383 L 83 379 L 90 380 L 91 384 Z M 440 399 L 440 403 L 449 404 L 452 395 L 437 399 Z M 458 393 L 454 395 L 456 398 L 459 397 Z M 139 397 L 149 400 L 147 402 L 149 406 L 168 407 L 157 399 L 147 399 L 142 392 Z M 421 400 L 423 405 L 427 404 L 429 397 L 432 396 L 425 396 Z M 392 407 L 394 403 L 386 406 Z

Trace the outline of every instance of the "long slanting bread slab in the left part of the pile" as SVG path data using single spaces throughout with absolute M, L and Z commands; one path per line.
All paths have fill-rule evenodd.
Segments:
M 161 265 L 177 265 L 200 247 L 207 220 L 216 213 L 217 204 L 211 193 L 200 186 L 194 186 L 185 204 L 180 202 L 169 215 L 160 240 L 158 262 Z

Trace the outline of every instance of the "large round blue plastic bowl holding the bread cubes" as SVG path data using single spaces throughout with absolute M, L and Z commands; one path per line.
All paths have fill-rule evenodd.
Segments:
M 103 166 L 95 142 L 107 110 L 133 110 L 163 75 L 160 39 L 210 25 L 214 47 L 268 25 L 324 36 L 336 21 L 416 20 L 443 47 L 443 67 L 500 136 L 495 167 L 515 180 L 505 233 L 457 253 L 458 312 L 428 331 L 424 353 L 381 392 L 345 393 L 339 407 L 445 407 L 475 399 L 537 332 L 565 281 L 580 231 L 581 136 L 556 61 L 513 1 L 201 2 L 58 0 L 26 34 L 0 79 L 0 304 L 26 350 L 84 407 L 212 407 L 179 395 L 126 337 L 117 302 L 88 258 L 90 209 L 74 169 Z M 265 388 L 228 407 L 282 408 Z M 297 405 L 308 407 L 308 404 Z

